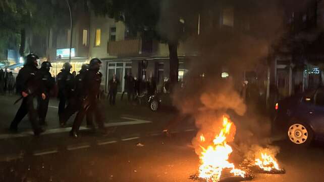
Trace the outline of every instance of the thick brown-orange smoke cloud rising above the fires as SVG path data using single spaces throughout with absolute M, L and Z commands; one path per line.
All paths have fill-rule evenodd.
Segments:
M 240 3 L 240 1 L 231 2 Z M 256 3 L 254 8 L 258 6 L 261 5 Z M 200 50 L 201 56 L 191 61 L 184 87 L 176 89 L 173 93 L 174 106 L 182 114 L 194 117 L 195 124 L 199 128 L 197 136 L 192 140 L 197 154 L 201 153 L 200 135 L 205 136 L 205 144 L 211 144 L 212 139 L 222 128 L 224 115 L 229 115 L 235 124 L 231 128 L 231 136 L 227 142 L 235 141 L 233 145 L 238 151 L 249 155 L 249 152 L 256 150 L 256 146 L 269 144 L 267 139 L 270 133 L 269 119 L 259 114 L 260 106 L 257 104 L 246 105 L 241 97 L 242 81 L 243 71 L 255 70 L 260 64 L 266 67 L 272 44 L 276 43 L 284 32 L 281 29 L 283 20 L 279 18 L 283 15 L 281 10 L 281 7 L 274 3 L 262 12 L 247 9 L 248 13 L 253 13 L 253 17 L 257 17 L 252 18 L 255 19 L 254 23 L 260 21 L 262 23 L 259 25 L 263 25 L 264 21 L 267 23 L 264 26 L 268 28 L 267 30 L 262 30 L 264 27 L 257 27 L 253 29 L 255 31 L 252 32 L 253 35 L 226 27 L 205 30 L 201 28 L 202 35 L 196 44 L 192 45 Z M 263 20 L 260 20 L 258 15 Z M 251 29 L 254 26 L 257 25 L 251 23 Z M 222 72 L 229 72 L 230 76 L 223 79 Z M 257 98 L 258 94 L 253 97 Z M 276 154 L 277 150 L 271 152 Z

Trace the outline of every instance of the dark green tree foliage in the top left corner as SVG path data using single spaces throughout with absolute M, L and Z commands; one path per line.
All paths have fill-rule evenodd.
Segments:
M 76 0 L 73 0 L 73 3 Z M 19 47 L 25 54 L 26 31 L 46 35 L 49 28 L 67 25 L 66 1 L 63 0 L 7 0 L 0 1 L 0 59 L 6 57 L 8 48 Z

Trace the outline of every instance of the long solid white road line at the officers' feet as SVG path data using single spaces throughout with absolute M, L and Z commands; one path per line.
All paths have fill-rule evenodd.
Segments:
M 137 120 L 137 119 L 134 119 L 134 118 L 125 118 L 125 117 L 122 117 L 122 119 L 133 120 L 133 121 L 116 122 L 116 123 L 105 123 L 104 126 L 105 127 L 113 127 L 113 126 L 126 126 L 126 125 L 138 125 L 138 124 L 152 123 L 151 121 Z M 56 133 L 65 133 L 65 132 L 71 131 L 71 129 L 72 129 L 71 127 L 50 129 L 50 130 L 46 130 L 41 135 L 56 134 Z M 89 128 L 80 127 L 80 130 L 89 130 Z M 21 133 L 18 133 L 18 134 L 1 134 L 0 135 L 0 139 L 28 137 L 28 136 L 32 136 L 32 135 L 34 135 L 34 133 L 32 131 L 25 131 L 25 132 L 21 132 Z

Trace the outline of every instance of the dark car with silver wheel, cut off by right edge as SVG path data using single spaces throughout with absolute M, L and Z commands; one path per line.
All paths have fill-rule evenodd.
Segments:
M 279 101 L 273 129 L 283 130 L 289 141 L 307 146 L 324 136 L 324 88 Z

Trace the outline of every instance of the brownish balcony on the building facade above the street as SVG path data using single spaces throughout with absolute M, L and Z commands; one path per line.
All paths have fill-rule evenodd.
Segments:
M 107 53 L 112 56 L 138 56 L 142 53 L 142 40 L 120 40 L 107 43 Z

